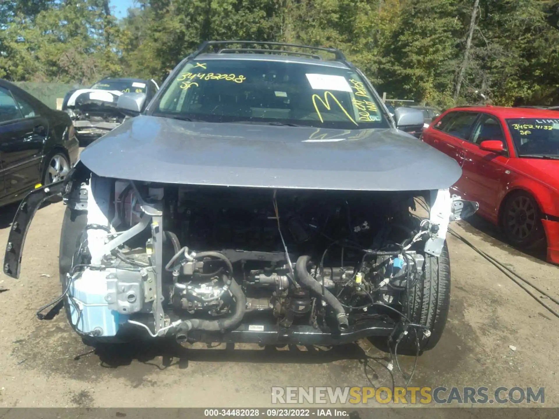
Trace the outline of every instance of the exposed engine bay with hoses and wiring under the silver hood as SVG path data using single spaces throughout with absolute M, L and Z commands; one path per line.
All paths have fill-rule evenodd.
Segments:
M 110 326 L 87 330 L 101 336 L 124 323 L 150 330 L 149 318 L 155 335 L 184 339 L 247 322 L 248 330 L 348 330 L 393 314 L 387 305 L 404 310 L 425 263 L 415 242 L 432 234 L 410 212 L 415 194 L 407 192 L 96 183 L 84 188 L 111 198 L 88 200 L 73 260 L 91 268 L 75 275 L 70 293 L 89 298 L 73 307 L 77 321 L 102 300 L 119 313 L 115 324 L 105 312 L 96 322 Z M 92 288 L 92 275 L 105 291 Z

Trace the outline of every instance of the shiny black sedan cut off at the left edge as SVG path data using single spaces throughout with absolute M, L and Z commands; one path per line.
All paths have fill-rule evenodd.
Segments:
M 78 160 L 70 117 L 0 80 L 0 206 L 65 178 Z

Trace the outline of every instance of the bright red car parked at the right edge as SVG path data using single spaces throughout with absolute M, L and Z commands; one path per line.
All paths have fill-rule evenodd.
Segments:
M 462 167 L 454 192 L 518 247 L 547 238 L 547 260 L 559 264 L 559 111 L 453 108 L 422 139 Z

